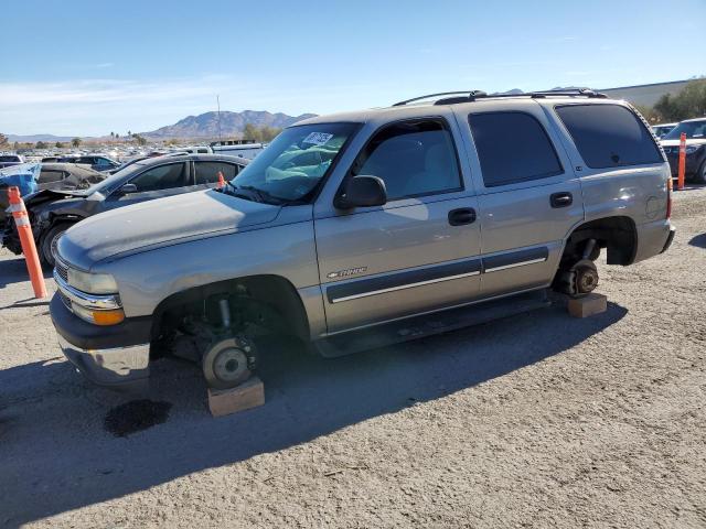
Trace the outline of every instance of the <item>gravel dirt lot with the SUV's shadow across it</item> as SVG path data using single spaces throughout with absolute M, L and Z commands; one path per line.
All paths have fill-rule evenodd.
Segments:
M 104 422 L 136 397 L 74 373 L 2 252 L 0 525 L 706 527 L 706 190 L 674 224 L 668 253 L 600 267 L 606 314 L 270 355 L 266 406 L 217 420 L 161 360 L 169 415 L 128 436 Z

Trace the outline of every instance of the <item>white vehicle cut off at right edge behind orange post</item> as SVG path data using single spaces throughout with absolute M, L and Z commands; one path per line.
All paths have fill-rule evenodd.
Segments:
M 676 177 L 680 165 L 680 139 L 686 133 L 685 180 L 706 184 L 706 118 L 687 119 L 678 123 L 660 143 Z

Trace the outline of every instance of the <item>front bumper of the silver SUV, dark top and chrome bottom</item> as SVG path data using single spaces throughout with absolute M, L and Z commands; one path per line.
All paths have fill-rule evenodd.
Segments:
M 50 313 L 64 356 L 90 381 L 119 386 L 149 376 L 151 319 L 93 325 L 73 314 L 60 294 L 54 294 Z

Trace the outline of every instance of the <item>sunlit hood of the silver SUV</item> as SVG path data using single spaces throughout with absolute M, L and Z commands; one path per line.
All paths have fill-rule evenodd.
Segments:
M 88 270 L 116 256 L 266 224 L 280 209 L 213 190 L 185 193 L 88 217 L 60 239 L 58 253 Z

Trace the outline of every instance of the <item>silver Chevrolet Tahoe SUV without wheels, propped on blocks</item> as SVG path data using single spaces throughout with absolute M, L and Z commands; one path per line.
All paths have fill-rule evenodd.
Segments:
M 336 356 L 585 295 L 602 249 L 627 266 L 670 246 L 668 181 L 640 115 L 591 91 L 317 117 L 223 190 L 66 231 L 52 320 L 96 382 L 167 353 L 233 387 L 265 334 Z

